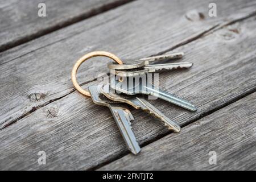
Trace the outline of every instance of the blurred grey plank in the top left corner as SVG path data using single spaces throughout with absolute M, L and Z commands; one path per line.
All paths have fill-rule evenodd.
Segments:
M 1 0 L 0 51 L 122 5 L 126 0 Z M 46 4 L 46 17 L 38 4 Z

